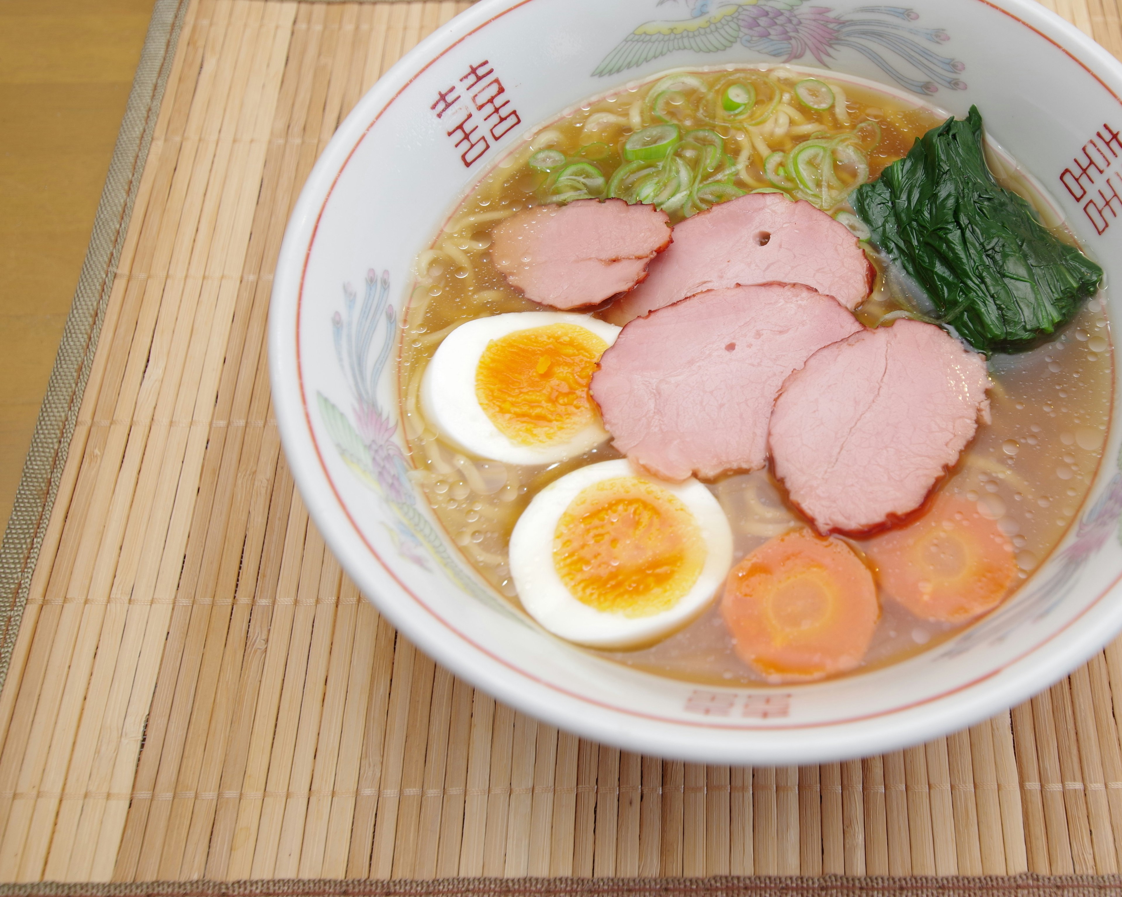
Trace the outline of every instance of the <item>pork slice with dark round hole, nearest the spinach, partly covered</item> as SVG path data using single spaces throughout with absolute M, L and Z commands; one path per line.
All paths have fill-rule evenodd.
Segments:
M 677 224 L 673 243 L 651 262 L 646 279 L 606 317 L 622 325 L 695 293 L 771 281 L 806 284 L 856 308 L 874 274 L 844 224 L 802 200 L 749 193 Z

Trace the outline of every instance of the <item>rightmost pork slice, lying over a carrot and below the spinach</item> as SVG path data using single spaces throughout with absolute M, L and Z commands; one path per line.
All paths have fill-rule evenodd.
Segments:
M 857 333 L 783 385 L 769 438 L 775 475 L 821 533 L 890 526 L 988 422 L 988 387 L 985 359 L 932 324 Z

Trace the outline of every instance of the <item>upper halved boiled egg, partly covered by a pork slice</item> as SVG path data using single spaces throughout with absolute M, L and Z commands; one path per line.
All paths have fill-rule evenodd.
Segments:
M 588 315 L 513 312 L 457 327 L 421 381 L 425 416 L 481 457 L 551 464 L 608 438 L 588 392 L 619 327 Z

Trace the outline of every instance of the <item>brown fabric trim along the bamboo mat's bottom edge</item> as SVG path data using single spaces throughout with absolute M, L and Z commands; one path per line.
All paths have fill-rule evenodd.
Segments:
M 38 882 L 2 885 L 0 897 L 415 897 L 416 895 L 487 895 L 487 897 L 827 897 L 884 895 L 893 897 L 974 897 L 975 895 L 1097 895 L 1118 894 L 1122 876 L 785 876 L 710 878 L 444 878 L 280 879 L 257 881 L 137 881 L 91 885 Z

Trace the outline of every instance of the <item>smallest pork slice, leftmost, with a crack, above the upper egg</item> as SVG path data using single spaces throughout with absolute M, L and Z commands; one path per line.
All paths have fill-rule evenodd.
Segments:
M 670 219 L 653 205 L 578 200 L 518 212 L 490 235 L 491 260 L 527 299 L 578 308 L 642 280 L 651 259 L 670 244 Z

